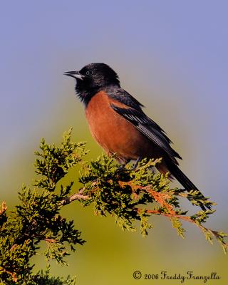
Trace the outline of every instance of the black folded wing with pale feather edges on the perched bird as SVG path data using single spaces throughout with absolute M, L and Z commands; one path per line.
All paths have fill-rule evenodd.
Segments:
M 151 120 L 141 109 L 136 110 L 135 108 L 120 108 L 115 104 L 111 104 L 111 107 L 115 112 L 122 115 L 126 120 L 135 125 L 140 133 L 145 135 L 149 140 L 154 142 L 158 147 L 164 150 L 168 157 L 178 165 L 175 157 L 180 157 L 175 150 L 170 146 L 171 140 L 165 135 L 165 132 L 157 125 L 153 120 Z

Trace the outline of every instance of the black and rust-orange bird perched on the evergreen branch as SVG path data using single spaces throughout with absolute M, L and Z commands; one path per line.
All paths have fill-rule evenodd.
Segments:
M 169 173 L 188 192 L 197 190 L 180 170 L 182 157 L 171 147 L 172 141 L 162 128 L 142 110 L 144 106 L 121 88 L 118 73 L 105 63 L 89 63 L 80 71 L 63 73 L 76 79 L 76 94 L 85 106 L 90 133 L 107 155 L 126 165 L 131 160 L 158 159 L 161 173 Z M 206 199 L 199 192 L 202 199 Z M 205 210 L 210 205 L 199 203 Z

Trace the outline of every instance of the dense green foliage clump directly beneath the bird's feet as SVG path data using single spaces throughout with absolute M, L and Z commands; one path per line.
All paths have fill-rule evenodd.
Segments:
M 168 180 L 160 174 L 148 171 L 155 166 L 157 160 L 139 163 L 136 170 L 130 166 L 127 169 L 119 167 L 113 157 L 98 157 L 92 161 L 83 172 L 80 182 L 83 184 L 83 195 L 88 199 L 82 200 L 84 205 L 93 203 L 95 214 L 113 214 L 115 222 L 122 229 L 135 230 L 135 221 L 142 224 L 141 232 L 146 234 L 148 213 L 138 206 L 155 201 L 147 191 L 142 191 L 152 183 L 156 190 L 167 190 Z M 162 181 L 161 181 L 162 180 Z

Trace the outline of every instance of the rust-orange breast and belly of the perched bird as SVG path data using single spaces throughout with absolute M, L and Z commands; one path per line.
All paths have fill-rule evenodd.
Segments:
M 111 108 L 110 104 L 129 108 L 100 91 L 91 98 L 86 107 L 90 132 L 108 154 L 116 153 L 120 161 L 135 160 L 151 152 L 151 143 L 134 125 Z

